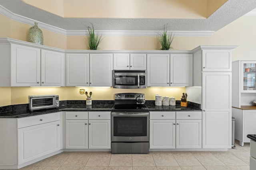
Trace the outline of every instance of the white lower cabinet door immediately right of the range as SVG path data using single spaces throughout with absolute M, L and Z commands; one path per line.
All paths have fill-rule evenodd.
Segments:
M 175 120 L 150 120 L 150 149 L 175 148 Z

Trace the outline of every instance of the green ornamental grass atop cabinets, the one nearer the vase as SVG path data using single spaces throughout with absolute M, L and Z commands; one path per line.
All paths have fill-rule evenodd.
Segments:
M 91 23 L 91 25 L 92 25 L 92 23 Z M 88 29 L 88 33 L 87 33 L 88 47 L 87 47 L 87 49 L 97 50 L 98 45 L 102 41 L 102 35 L 94 32 L 93 25 L 91 27 L 88 26 L 87 29 Z

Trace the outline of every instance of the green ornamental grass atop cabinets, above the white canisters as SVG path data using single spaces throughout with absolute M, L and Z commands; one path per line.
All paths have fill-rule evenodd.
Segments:
M 164 25 L 163 32 L 162 34 L 159 33 L 159 35 L 160 35 L 159 41 L 162 46 L 161 50 L 173 49 L 172 43 L 174 40 L 174 35 L 173 33 L 167 32 L 167 25 Z

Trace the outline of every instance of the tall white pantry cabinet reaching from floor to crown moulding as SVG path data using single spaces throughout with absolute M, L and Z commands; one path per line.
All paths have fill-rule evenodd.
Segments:
M 193 54 L 193 86 L 202 87 L 202 148 L 231 148 L 232 49 L 199 46 Z

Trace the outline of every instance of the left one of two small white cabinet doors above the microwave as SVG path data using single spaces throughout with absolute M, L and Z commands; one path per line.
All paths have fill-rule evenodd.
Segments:
M 114 54 L 114 70 L 130 70 L 130 54 Z

